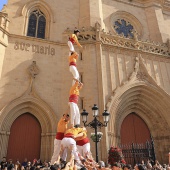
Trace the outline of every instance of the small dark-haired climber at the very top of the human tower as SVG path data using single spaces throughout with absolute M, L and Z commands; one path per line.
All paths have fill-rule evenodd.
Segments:
M 73 44 L 76 43 L 80 48 L 82 48 L 81 44 L 78 42 L 77 36 L 80 34 L 80 31 L 78 29 L 74 30 L 74 34 L 71 34 L 68 40 L 68 46 L 71 52 L 75 52 Z

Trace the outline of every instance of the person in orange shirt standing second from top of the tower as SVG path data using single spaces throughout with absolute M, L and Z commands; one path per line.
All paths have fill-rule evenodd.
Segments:
M 72 52 L 71 56 L 69 56 L 69 70 L 73 75 L 73 78 L 79 81 L 79 72 L 77 70 L 77 61 L 78 54 L 76 52 Z M 73 80 L 72 85 L 75 83 L 75 80 Z

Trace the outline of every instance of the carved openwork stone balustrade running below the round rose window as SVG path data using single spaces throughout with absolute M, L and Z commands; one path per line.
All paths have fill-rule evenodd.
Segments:
M 136 53 L 147 53 L 154 54 L 159 57 L 170 57 L 170 47 L 169 41 L 167 43 L 158 43 L 154 41 L 141 41 L 138 33 L 134 30 L 134 38 L 125 38 L 123 35 L 113 35 L 111 32 L 105 32 L 101 29 L 100 24 L 95 25 L 95 27 L 81 28 L 81 33 L 78 37 L 79 41 L 88 43 L 95 43 L 100 41 L 102 43 L 102 48 L 105 51 L 114 51 L 114 47 L 117 49 L 132 50 Z M 73 33 L 73 29 L 67 28 L 63 36 L 69 37 Z

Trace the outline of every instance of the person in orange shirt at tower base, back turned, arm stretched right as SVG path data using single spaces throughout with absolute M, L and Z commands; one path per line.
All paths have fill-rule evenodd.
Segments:
M 71 150 L 72 154 L 74 155 L 74 159 L 80 163 L 80 158 L 78 156 L 78 150 L 76 147 L 76 141 L 75 139 L 78 137 L 82 137 L 83 132 L 86 131 L 85 127 L 82 128 L 70 128 L 66 130 L 64 134 L 64 138 L 61 141 L 61 152 L 60 156 L 63 157 L 63 151 L 67 148 Z M 66 157 L 63 157 L 63 159 L 66 159 Z

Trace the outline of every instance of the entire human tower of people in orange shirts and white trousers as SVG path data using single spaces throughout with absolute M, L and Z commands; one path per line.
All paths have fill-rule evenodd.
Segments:
M 85 127 L 80 127 L 80 111 L 78 108 L 79 90 L 83 87 L 83 83 L 79 81 L 79 72 L 77 70 L 76 61 L 78 53 L 75 51 L 74 44 L 80 48 L 82 46 L 78 42 L 77 36 L 80 31 L 74 30 L 74 33 L 69 36 L 69 70 L 72 73 L 73 81 L 69 92 L 69 114 L 63 114 L 57 125 L 57 134 L 54 139 L 54 153 L 51 158 L 51 164 L 59 161 L 61 157 L 63 161 L 67 159 L 67 150 L 70 149 L 74 160 L 81 164 L 80 156 L 86 156 L 90 153 L 90 143 L 87 138 Z M 70 121 L 70 126 L 68 123 Z

